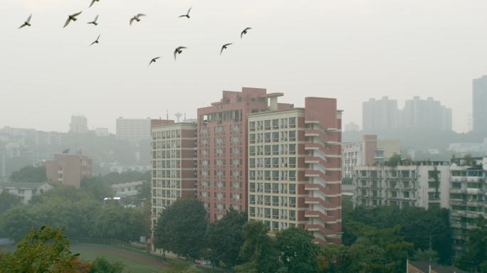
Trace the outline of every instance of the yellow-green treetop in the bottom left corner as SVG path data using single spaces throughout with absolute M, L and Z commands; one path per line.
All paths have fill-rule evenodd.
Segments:
M 78 273 L 86 272 L 78 255 L 70 251 L 69 240 L 62 228 L 32 229 L 23 238 L 13 254 L 6 254 L 0 260 L 4 272 L 36 273 Z

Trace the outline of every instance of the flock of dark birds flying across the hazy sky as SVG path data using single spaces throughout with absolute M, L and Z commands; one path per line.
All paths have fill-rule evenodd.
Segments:
M 100 0 L 91 0 L 91 4 L 88 8 L 90 8 L 91 6 L 93 6 L 93 4 L 95 4 L 95 2 L 99 2 Z M 183 14 L 183 15 L 180 15 L 179 18 L 191 18 L 191 16 L 189 16 L 189 12 L 191 11 L 192 8 L 189 8 L 187 13 L 186 14 Z M 78 12 L 78 13 L 75 13 L 75 14 L 71 14 L 71 15 L 68 15 L 68 19 L 66 20 L 66 22 L 64 23 L 64 26 L 63 28 L 66 28 L 66 26 L 69 25 L 70 22 L 75 22 L 78 20 L 78 17 L 80 14 L 82 13 L 82 11 Z M 146 16 L 145 14 L 137 14 L 135 16 L 133 16 L 132 18 L 130 18 L 130 26 L 132 26 L 132 23 L 135 21 L 135 22 L 140 22 L 141 20 L 141 17 L 143 16 Z M 32 18 L 32 14 L 30 16 L 28 16 L 27 20 L 23 22 L 23 24 L 19 27 L 19 28 L 23 28 L 25 26 L 31 26 L 31 18 Z M 89 24 L 92 24 L 93 26 L 98 26 L 98 15 L 95 17 L 95 19 L 93 19 L 93 21 L 90 21 L 88 22 Z M 245 28 L 243 31 L 241 31 L 240 33 L 240 38 L 243 38 L 245 34 L 247 34 L 247 32 L 249 30 L 251 30 L 252 28 L 250 27 L 247 27 Z M 95 43 L 100 43 L 100 36 L 101 35 L 98 35 L 98 38 L 96 38 L 96 40 L 93 42 L 93 43 L 90 43 L 90 46 L 91 45 L 94 45 Z M 221 46 L 221 50 L 220 50 L 220 55 L 221 53 L 223 53 L 223 51 L 225 49 L 228 48 L 229 45 L 232 45 L 233 43 L 226 43 L 224 45 Z M 174 60 L 176 60 L 176 57 L 177 55 L 181 54 L 182 53 L 182 50 L 183 49 L 186 49 L 187 47 L 185 46 L 178 46 L 176 49 L 174 49 Z M 162 57 L 156 57 L 156 58 L 152 58 L 152 60 L 150 60 L 150 63 L 149 65 L 152 65 L 152 63 L 155 63 L 159 58 L 162 58 Z

